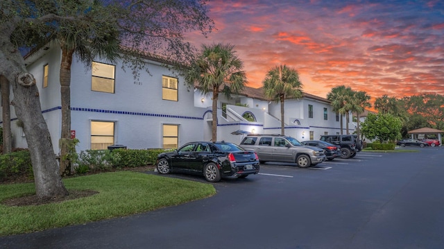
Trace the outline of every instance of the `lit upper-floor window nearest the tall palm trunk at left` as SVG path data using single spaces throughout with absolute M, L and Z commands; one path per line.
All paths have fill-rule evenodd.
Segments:
M 114 94 L 115 66 L 92 62 L 91 90 Z

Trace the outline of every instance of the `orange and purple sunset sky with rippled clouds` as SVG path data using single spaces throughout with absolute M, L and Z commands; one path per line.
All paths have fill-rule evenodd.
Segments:
M 295 68 L 309 94 L 346 85 L 374 98 L 444 95 L 444 1 L 210 0 L 216 31 L 189 37 L 230 43 L 248 86 L 276 65 Z

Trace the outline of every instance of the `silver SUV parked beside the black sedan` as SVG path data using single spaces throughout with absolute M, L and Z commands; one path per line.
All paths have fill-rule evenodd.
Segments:
M 293 137 L 282 135 L 247 135 L 239 145 L 254 150 L 259 162 L 293 162 L 301 168 L 325 161 L 321 148 L 305 146 Z

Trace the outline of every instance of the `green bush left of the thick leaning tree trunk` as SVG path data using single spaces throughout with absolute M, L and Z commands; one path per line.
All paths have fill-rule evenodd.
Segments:
M 15 151 L 6 155 L 0 155 L 0 179 L 6 179 L 12 175 L 32 176 L 33 165 L 28 150 Z

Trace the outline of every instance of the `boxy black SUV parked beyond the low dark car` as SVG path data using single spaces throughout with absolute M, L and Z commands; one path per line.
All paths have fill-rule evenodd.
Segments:
M 341 146 L 341 158 L 355 157 L 362 149 L 357 135 L 321 135 L 320 140 Z

